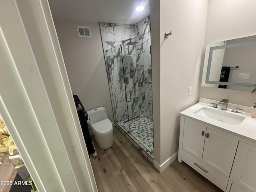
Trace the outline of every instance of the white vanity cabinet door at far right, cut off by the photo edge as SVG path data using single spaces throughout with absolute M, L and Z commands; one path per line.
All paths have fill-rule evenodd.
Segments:
M 242 144 L 234 169 L 234 181 L 250 192 L 256 192 L 256 146 Z

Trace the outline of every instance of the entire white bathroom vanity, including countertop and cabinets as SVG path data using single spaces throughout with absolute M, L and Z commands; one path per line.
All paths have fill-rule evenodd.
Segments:
M 256 120 L 250 108 L 234 114 L 200 102 L 180 112 L 178 161 L 184 161 L 224 192 L 256 192 Z M 241 121 L 242 120 L 242 121 Z

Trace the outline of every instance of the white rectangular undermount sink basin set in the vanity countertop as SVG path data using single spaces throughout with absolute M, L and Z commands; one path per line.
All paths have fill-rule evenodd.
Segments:
M 215 110 L 207 107 L 202 107 L 199 110 L 194 112 L 195 114 L 202 115 L 220 122 L 224 122 L 230 125 L 240 125 L 245 117 L 230 114 L 225 111 Z

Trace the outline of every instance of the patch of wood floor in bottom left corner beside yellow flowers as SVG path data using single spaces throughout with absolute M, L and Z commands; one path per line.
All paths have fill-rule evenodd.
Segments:
M 10 162 L 7 156 L 0 156 L 2 164 L 0 164 L 0 182 L 1 181 L 13 181 L 17 171 L 14 168 L 13 164 Z M 1 185 L 0 192 L 8 192 L 11 188 L 11 185 Z

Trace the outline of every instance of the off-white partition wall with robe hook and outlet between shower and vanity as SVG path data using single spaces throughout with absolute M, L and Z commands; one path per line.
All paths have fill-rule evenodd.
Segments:
M 160 2 L 160 54 L 154 49 L 155 46 L 159 46 L 157 43 L 154 44 L 159 37 L 153 35 L 157 34 L 154 28 L 158 25 L 154 18 L 158 15 L 157 11 L 154 10 L 154 6 L 157 7 L 157 2 L 150 1 L 152 90 L 154 139 L 156 141 L 154 148 L 155 162 L 162 165 L 178 151 L 179 113 L 197 102 L 208 1 L 160 0 L 158 2 Z M 154 11 L 156 13 L 152 16 Z M 165 38 L 164 33 L 168 33 L 170 30 L 172 30 L 172 35 Z M 159 60 L 160 66 L 155 63 Z M 157 76 L 159 68 L 160 82 Z M 154 77 L 156 77 L 158 86 L 160 86 L 160 98 L 156 96 L 156 92 L 159 94 L 159 90 L 156 82 L 154 83 Z M 192 95 L 188 96 L 188 87 L 190 86 L 192 86 Z M 160 109 L 156 107 L 155 103 L 160 103 Z M 158 122 L 158 124 L 155 124 L 155 122 Z M 157 142 L 157 140 L 159 141 Z M 160 154 L 158 150 L 160 150 Z

